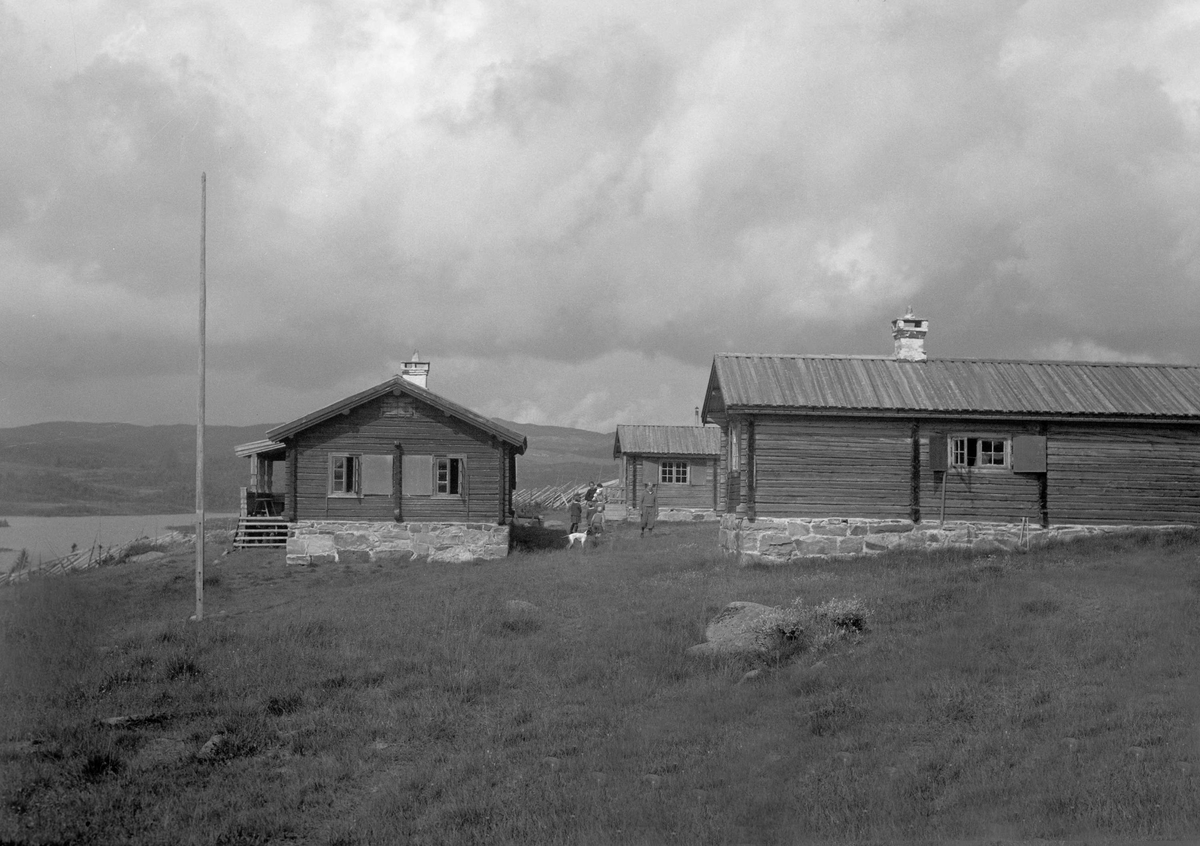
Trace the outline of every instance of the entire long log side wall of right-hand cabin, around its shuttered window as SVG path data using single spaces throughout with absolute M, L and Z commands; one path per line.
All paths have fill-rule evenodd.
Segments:
M 758 516 L 912 518 L 916 508 L 936 522 L 944 502 L 946 520 L 1200 523 L 1196 427 L 762 415 L 752 433 Z M 1045 473 L 930 469 L 931 437 L 1020 434 L 1046 438 Z

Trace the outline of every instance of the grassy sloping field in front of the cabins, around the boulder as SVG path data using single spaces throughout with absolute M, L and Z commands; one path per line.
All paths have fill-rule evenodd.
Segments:
M 190 554 L 0 594 L 0 842 L 1200 833 L 1195 535 L 774 570 L 712 524 L 481 565 L 210 552 L 199 624 Z M 850 596 L 857 644 L 752 680 L 684 655 L 732 600 Z

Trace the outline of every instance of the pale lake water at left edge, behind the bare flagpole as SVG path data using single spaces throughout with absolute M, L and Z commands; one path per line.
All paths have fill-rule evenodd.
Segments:
M 205 514 L 205 521 L 236 517 L 236 514 Z M 106 515 L 88 517 L 5 517 L 8 526 L 0 526 L 0 572 L 7 572 L 22 550 L 29 551 L 35 564 L 38 558 L 54 560 L 70 554 L 71 545 L 80 550 L 100 544 L 106 550 L 138 538 L 167 534 L 169 526 L 196 526 L 196 512 Z

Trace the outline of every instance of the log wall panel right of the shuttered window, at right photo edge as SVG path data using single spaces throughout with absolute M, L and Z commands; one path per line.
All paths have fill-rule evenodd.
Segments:
M 1054 523 L 1198 523 L 1200 431 L 1051 424 L 1046 505 Z

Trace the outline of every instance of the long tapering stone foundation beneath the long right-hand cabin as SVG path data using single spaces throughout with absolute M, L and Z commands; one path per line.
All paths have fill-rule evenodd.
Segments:
M 739 564 L 787 564 L 802 558 L 863 556 L 888 550 L 1027 550 L 1054 540 L 1090 535 L 1194 528 L 1190 526 L 1021 526 L 955 521 L 913 523 L 907 520 L 782 518 L 748 520 L 721 515 L 720 545 Z

